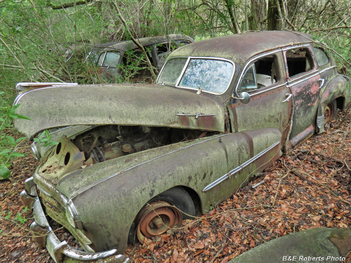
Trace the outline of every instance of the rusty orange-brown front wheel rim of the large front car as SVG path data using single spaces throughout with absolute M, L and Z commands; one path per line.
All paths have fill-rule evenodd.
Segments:
M 161 235 L 182 222 L 180 211 L 163 201 L 150 203 L 140 211 L 139 215 L 137 238 L 141 243 L 144 243 L 145 237 Z

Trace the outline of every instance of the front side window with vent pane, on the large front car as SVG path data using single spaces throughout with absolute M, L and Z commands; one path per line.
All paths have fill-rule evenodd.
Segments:
M 238 93 L 251 92 L 277 83 L 279 75 L 276 61 L 276 56 L 256 60 L 243 75 Z

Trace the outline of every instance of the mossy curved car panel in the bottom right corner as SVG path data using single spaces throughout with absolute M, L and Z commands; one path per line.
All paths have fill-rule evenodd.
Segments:
M 260 244 L 229 263 L 341 262 L 335 258 L 346 257 L 350 250 L 351 229 L 312 228 Z

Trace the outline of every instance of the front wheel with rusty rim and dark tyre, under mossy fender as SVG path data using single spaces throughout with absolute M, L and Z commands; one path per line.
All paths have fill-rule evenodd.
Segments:
M 195 205 L 188 192 L 181 187 L 168 189 L 152 198 L 138 213 L 137 239 L 144 243 L 145 237 L 161 235 L 191 216 L 195 216 Z

